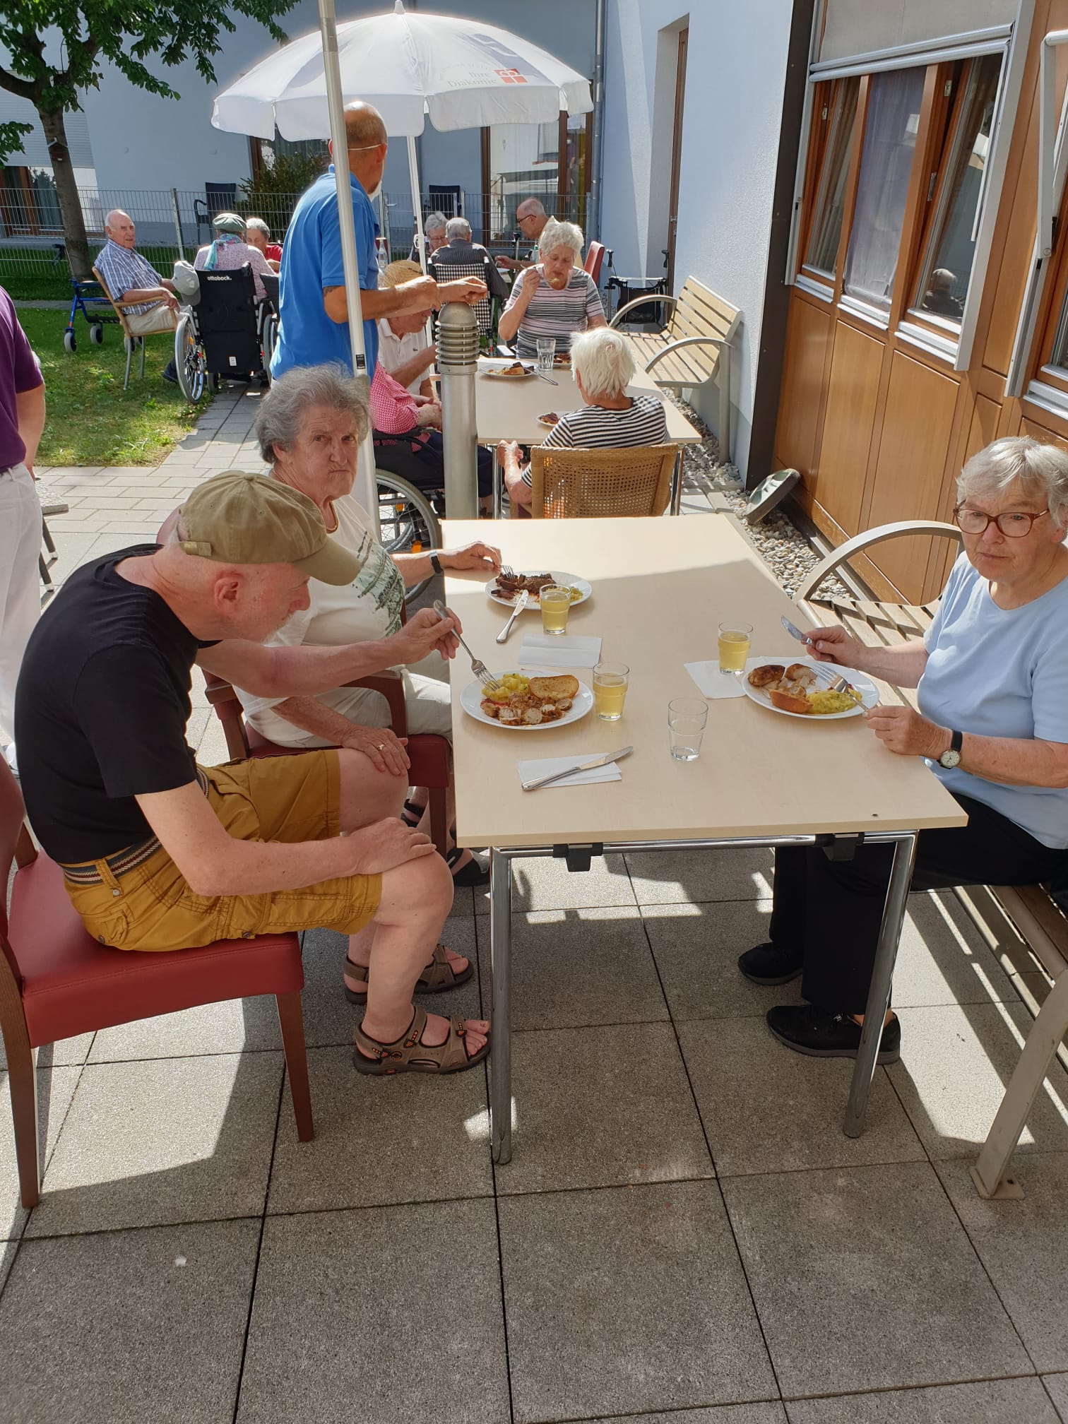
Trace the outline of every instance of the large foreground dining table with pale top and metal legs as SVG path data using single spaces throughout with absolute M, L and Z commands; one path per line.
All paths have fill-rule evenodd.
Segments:
M 476 520 L 444 524 L 450 547 L 486 535 L 486 524 Z M 716 658 L 721 621 L 752 624 L 755 655 L 792 661 L 799 651 L 780 624 L 783 614 L 796 621 L 796 608 L 729 515 L 508 521 L 493 530 L 493 538 L 518 571 L 554 570 L 588 580 L 592 594 L 571 608 L 568 634 L 600 637 L 601 656 L 629 666 L 618 722 L 602 722 L 591 711 L 544 731 L 468 716 L 460 695 L 473 678 L 463 651 L 453 666 L 456 839 L 460 846 L 490 847 L 494 1161 L 511 1156 L 511 862 L 525 856 L 565 857 L 581 871 L 609 852 L 823 844 L 847 857 L 859 836 L 893 843 L 843 1124 L 847 1135 L 859 1136 L 890 1004 L 916 837 L 928 827 L 963 826 L 965 813 L 923 760 L 889 752 L 860 716 L 790 718 L 748 696 L 716 698 L 708 702 L 701 756 L 671 758 L 668 702 L 699 695 L 684 664 Z M 508 609 L 494 604 L 484 585 L 483 575 L 449 574 L 446 601 L 490 671 L 517 671 L 524 631 L 540 632 L 540 617 L 520 614 L 508 642 L 498 646 L 494 639 Z M 551 659 L 545 666 L 553 669 Z M 590 685 L 590 671 L 575 675 Z M 628 743 L 634 753 L 619 762 L 621 780 L 534 792 L 520 786 L 520 759 L 592 758 Z

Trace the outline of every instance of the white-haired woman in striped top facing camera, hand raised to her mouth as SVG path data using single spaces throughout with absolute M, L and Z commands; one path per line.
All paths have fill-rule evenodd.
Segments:
M 515 337 L 515 355 L 527 360 L 538 353 L 538 336 L 551 336 L 557 355 L 567 355 L 578 332 L 607 326 L 597 283 L 582 271 L 582 229 L 550 218 L 538 239 L 541 261 L 515 282 L 501 312 L 497 332 L 504 342 Z

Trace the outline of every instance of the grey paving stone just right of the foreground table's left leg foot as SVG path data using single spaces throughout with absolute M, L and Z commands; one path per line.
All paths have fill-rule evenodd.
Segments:
M 671 1024 L 517 1034 L 513 1081 L 498 1192 L 712 1176 Z

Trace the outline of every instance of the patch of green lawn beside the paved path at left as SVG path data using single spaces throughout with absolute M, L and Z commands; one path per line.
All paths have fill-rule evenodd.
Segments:
M 105 326 L 104 345 L 94 346 L 85 322 L 75 318 L 78 349 L 68 356 L 63 349 L 66 312 L 21 306 L 19 320 L 44 375 L 48 417 L 38 464 L 158 464 L 211 403 L 205 392 L 191 406 L 177 386 L 162 380 L 159 373 L 174 355 L 174 342 L 165 336 L 145 337 L 144 380 L 135 352 L 124 392 L 118 326 Z

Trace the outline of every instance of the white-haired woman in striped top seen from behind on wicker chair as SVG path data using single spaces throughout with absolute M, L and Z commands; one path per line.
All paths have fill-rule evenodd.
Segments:
M 627 394 L 634 369 L 631 347 L 619 332 L 604 328 L 575 336 L 571 343 L 571 375 L 585 404 L 560 417 L 543 440 L 543 449 L 622 450 L 662 444 L 668 439 L 664 403 L 655 396 Z M 513 508 L 528 507 L 530 467 L 520 467 L 518 444 L 501 440 L 497 459 L 504 468 L 504 484 Z

